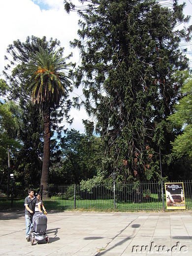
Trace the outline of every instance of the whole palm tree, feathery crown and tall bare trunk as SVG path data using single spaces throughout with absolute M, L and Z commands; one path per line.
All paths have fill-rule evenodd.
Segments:
M 39 51 L 30 56 L 30 62 L 24 64 L 25 75 L 28 76 L 27 90 L 31 92 L 32 103 L 39 106 L 44 122 L 44 149 L 41 186 L 46 189 L 49 182 L 51 111 L 58 108 L 60 99 L 68 97 L 72 91 L 71 82 L 66 70 L 71 64 L 66 64 L 61 51 L 49 51 L 39 47 Z

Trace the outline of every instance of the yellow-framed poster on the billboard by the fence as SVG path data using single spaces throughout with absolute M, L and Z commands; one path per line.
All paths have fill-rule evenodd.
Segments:
M 167 209 L 186 209 L 183 182 L 165 183 Z

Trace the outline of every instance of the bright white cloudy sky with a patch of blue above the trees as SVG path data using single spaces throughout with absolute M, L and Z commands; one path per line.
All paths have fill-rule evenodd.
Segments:
M 183 1 L 179 0 L 179 3 Z M 160 2 L 163 4 L 171 0 L 160 0 Z M 192 15 L 192 0 L 185 0 L 185 2 L 187 7 L 184 13 Z M 73 52 L 73 58 L 70 60 L 78 64 L 80 60 L 78 50 L 71 49 L 69 46 L 70 40 L 78 38 L 78 20 L 76 12 L 70 14 L 65 12 L 63 0 L 0 0 L 0 78 L 3 78 L 1 74 L 5 65 L 4 55 L 6 55 L 7 46 L 17 39 L 25 42 L 27 36 L 32 35 L 40 38 L 46 36 L 47 40 L 51 37 L 57 38 L 65 49 L 64 56 Z M 188 51 L 191 52 L 188 58 L 192 59 L 192 46 L 188 47 Z M 81 91 L 75 90 L 71 96 L 76 94 L 81 95 Z M 83 133 L 82 119 L 88 118 L 84 108 L 80 111 L 71 109 L 70 115 L 74 121 L 70 127 L 68 125 L 66 127 Z

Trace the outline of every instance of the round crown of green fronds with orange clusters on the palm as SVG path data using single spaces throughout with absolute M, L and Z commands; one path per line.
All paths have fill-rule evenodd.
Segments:
M 68 57 L 63 58 L 62 53 L 39 47 L 39 51 L 31 55 L 30 62 L 25 64 L 26 76 L 29 77 L 26 86 L 32 92 L 33 103 L 58 105 L 61 96 L 68 96 L 71 81 L 67 71 L 71 64 L 66 64 Z

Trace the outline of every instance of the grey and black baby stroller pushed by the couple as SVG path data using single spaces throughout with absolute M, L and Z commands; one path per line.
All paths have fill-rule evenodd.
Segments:
M 44 213 L 37 212 L 32 217 L 30 238 L 31 245 L 36 240 L 37 243 L 49 243 L 49 237 L 46 236 L 47 217 Z

